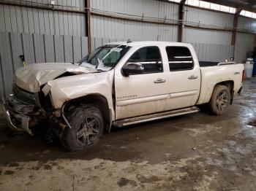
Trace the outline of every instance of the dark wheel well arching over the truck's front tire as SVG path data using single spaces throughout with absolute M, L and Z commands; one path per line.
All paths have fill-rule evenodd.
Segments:
M 75 98 L 74 100 L 67 102 L 64 110 L 67 111 L 72 106 L 80 106 L 81 104 L 96 106 L 102 112 L 105 129 L 109 130 L 111 124 L 110 109 L 108 107 L 108 101 L 103 95 L 90 94 L 80 98 Z

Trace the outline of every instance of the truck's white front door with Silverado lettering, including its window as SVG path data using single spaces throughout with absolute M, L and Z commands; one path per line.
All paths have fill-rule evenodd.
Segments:
M 124 77 L 121 68 L 115 69 L 116 120 L 165 111 L 168 95 L 159 47 L 140 47 L 121 67 L 127 63 L 140 63 L 144 71 Z

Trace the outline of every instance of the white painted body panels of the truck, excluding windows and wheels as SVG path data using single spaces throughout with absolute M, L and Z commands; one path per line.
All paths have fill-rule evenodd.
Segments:
M 42 90 L 45 95 L 50 93 L 50 99 L 56 109 L 60 109 L 64 102 L 84 95 L 102 95 L 108 101 L 108 107 L 112 111 L 112 120 L 207 103 L 218 82 L 233 81 L 235 93 L 241 87 L 244 65 L 231 64 L 200 68 L 191 44 L 178 42 L 113 42 L 110 44 L 123 44 L 131 47 L 115 69 L 94 73 L 93 69 L 89 70 L 72 64 L 34 64 L 19 69 L 15 74 L 15 83 L 31 92 L 39 91 L 40 85 L 47 83 Z M 124 64 L 135 51 L 146 46 L 159 47 L 163 71 L 124 77 L 121 74 Z M 167 46 L 189 48 L 194 68 L 186 71 L 170 71 L 165 51 Z M 66 71 L 79 75 L 55 79 Z M 238 72 L 240 74 L 236 75 Z M 189 79 L 192 76 L 197 78 Z M 154 83 L 157 79 L 164 79 L 165 82 Z M 112 98 L 113 82 L 116 93 L 115 112 Z

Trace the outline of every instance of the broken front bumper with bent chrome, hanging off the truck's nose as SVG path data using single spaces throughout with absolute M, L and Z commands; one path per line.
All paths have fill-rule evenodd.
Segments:
M 34 123 L 37 115 L 42 115 L 40 112 L 34 111 L 33 104 L 27 104 L 20 101 L 15 95 L 9 95 L 7 101 L 1 98 L 1 106 L 7 118 L 9 127 L 12 130 L 25 131 L 31 134 L 29 126 Z

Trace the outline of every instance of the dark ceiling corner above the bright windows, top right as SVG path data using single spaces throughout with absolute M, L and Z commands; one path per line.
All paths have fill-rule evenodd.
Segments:
M 203 0 L 214 4 L 222 4 L 229 7 L 256 12 L 256 0 Z

